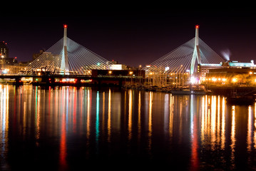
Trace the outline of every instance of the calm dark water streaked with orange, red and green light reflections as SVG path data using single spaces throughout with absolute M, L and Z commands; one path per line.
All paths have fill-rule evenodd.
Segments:
M 256 169 L 256 104 L 112 88 L 0 96 L 0 170 Z

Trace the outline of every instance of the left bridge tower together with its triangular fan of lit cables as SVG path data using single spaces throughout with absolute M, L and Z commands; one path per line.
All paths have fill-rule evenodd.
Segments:
M 67 27 L 64 25 L 61 40 L 29 63 L 25 68 L 26 73 L 48 71 L 62 75 L 90 75 L 92 69 L 108 69 L 111 64 L 108 60 L 67 37 Z

